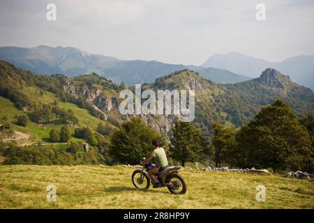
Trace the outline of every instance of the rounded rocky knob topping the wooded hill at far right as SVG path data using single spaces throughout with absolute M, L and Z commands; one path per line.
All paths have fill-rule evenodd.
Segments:
M 265 86 L 269 86 L 271 88 L 276 89 L 287 89 L 292 85 L 291 79 L 289 76 L 283 75 L 278 70 L 273 68 L 267 68 L 262 72 L 259 78 L 257 78 L 257 82 Z

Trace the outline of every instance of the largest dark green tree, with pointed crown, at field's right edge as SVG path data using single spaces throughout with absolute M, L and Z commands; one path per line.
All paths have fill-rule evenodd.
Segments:
M 294 112 L 282 100 L 262 107 L 237 134 L 244 167 L 307 169 L 311 140 Z

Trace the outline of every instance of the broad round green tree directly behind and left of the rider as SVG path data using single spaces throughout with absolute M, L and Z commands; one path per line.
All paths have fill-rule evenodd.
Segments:
M 165 148 L 165 139 L 149 128 L 141 118 L 133 117 L 121 124 L 110 137 L 110 155 L 121 163 L 138 164 L 153 151 L 151 141 L 156 139 Z

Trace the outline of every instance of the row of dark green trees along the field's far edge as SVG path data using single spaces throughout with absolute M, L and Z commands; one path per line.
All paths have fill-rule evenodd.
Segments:
M 110 155 L 121 163 L 138 164 L 152 151 L 151 140 L 162 142 L 167 155 L 182 166 L 212 160 L 216 167 L 271 168 L 314 171 L 314 114 L 298 119 L 282 100 L 262 107 L 239 129 L 212 123 L 206 139 L 192 123 L 177 121 L 170 142 L 140 118 L 122 123 L 110 137 Z

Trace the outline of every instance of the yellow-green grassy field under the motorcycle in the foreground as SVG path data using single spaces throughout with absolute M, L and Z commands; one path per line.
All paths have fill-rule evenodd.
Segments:
M 0 166 L 0 208 L 314 208 L 313 180 L 273 175 L 182 171 L 188 192 L 137 190 L 133 167 Z M 46 187 L 57 201 L 46 201 Z M 257 185 L 266 201 L 257 202 Z

